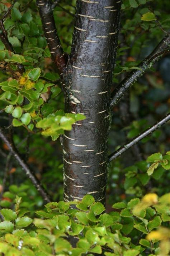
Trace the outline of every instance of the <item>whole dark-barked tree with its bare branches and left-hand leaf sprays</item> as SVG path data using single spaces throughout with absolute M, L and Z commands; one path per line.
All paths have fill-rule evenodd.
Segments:
M 81 200 L 86 194 L 91 194 L 96 201 L 104 203 L 109 162 L 170 120 L 170 114 L 167 114 L 158 123 L 108 156 L 108 136 L 112 122 L 113 107 L 118 104 L 119 100 L 123 98 L 134 82 L 148 71 L 162 55 L 169 51 L 170 36 L 166 33 L 152 53 L 143 59 L 136 69 L 129 72 L 111 93 L 118 49 L 120 17 L 121 14 L 123 15 L 121 1 L 77 0 L 70 54 L 64 52 L 57 33 L 57 24 L 53 10 L 58 6 L 58 2 L 37 0 L 36 4 L 51 59 L 60 75 L 62 91 L 65 97 L 65 112 L 70 115 L 64 116 L 63 113 L 57 112 L 56 114 L 52 113 L 51 116 L 50 114 L 45 116 L 44 119 L 42 119 L 42 116 L 39 116 L 36 120 L 36 126 L 43 130 L 44 135 L 51 135 L 55 139 L 60 136 L 63 151 L 64 200 Z M 30 69 L 26 66 L 29 60 L 20 60 L 15 56 L 15 49 L 11 45 L 9 35 L 7 35 L 4 27 L 4 21 L 10 15 L 12 8 L 13 5 L 11 5 L 1 19 L 0 39 L 8 51 L 5 54 L 8 55 L 10 53 L 8 58 L 6 57 L 6 59 L 9 59 L 7 63 L 8 61 L 9 63 L 15 63 L 15 70 L 12 72 L 13 69 L 9 65 L 7 72 L 12 72 L 13 78 L 19 82 L 15 82 L 15 84 L 10 82 L 8 85 L 2 84 L 2 90 L 8 92 L 5 86 L 11 86 L 13 90 L 19 92 L 18 95 L 22 96 L 22 98 L 17 98 L 13 104 L 9 95 L 5 94 L 3 100 L 6 100 L 8 103 L 12 102 L 10 104 L 12 107 L 13 105 L 16 108 L 23 107 L 21 111 L 25 111 L 24 114 L 29 114 L 27 113 L 29 109 L 32 112 L 38 112 L 40 106 L 44 103 L 40 96 L 38 96 L 38 99 L 36 98 L 37 96 L 34 98 L 33 95 L 32 98 L 34 104 L 37 104 L 37 108 L 33 108 L 34 104 L 31 107 L 29 106 L 30 108 L 24 108 L 28 103 L 24 103 L 24 98 L 29 101 L 29 104 L 32 101 L 31 96 L 31 99 L 28 96 L 28 90 L 32 90 L 34 94 L 37 90 L 36 92 L 39 92 L 39 95 L 41 95 L 42 93 L 47 93 L 47 88 L 52 85 L 47 84 L 46 89 L 41 84 L 37 85 L 36 81 L 38 78 L 43 80 L 43 77 L 40 77 L 40 73 L 37 75 L 39 71 L 33 71 L 33 69 L 29 71 L 31 65 L 29 66 Z M 13 21 L 16 21 L 19 19 L 19 13 L 14 9 L 12 10 Z M 33 26 L 33 24 L 29 26 Z M 23 24 L 21 27 L 24 31 L 28 29 Z M 44 78 L 44 80 L 47 80 L 47 78 Z M 22 87 L 25 85 L 24 83 L 27 85 L 27 91 Z M 42 90 L 39 89 L 41 86 Z M 12 89 L 11 93 L 13 93 Z M 12 107 L 11 109 L 8 108 L 6 112 L 11 113 L 15 118 L 15 121 L 13 121 L 14 126 L 20 126 L 20 123 L 21 125 L 24 123 L 22 120 L 25 120 L 26 116 L 22 118 L 22 112 L 18 114 L 20 109 L 13 110 Z M 20 117 L 22 122 L 19 121 Z M 25 121 L 24 125 L 27 126 L 27 121 Z M 11 153 L 14 154 L 14 157 L 32 180 L 44 200 L 50 202 L 51 199 L 47 192 L 2 129 L 0 130 L 0 137 L 8 145 Z

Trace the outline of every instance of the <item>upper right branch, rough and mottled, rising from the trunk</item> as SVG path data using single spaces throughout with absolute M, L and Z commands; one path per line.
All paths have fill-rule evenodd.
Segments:
M 157 47 L 152 51 L 147 58 L 145 58 L 138 66 L 140 70 L 134 70 L 130 72 L 127 77 L 117 86 L 117 88 L 112 93 L 111 107 L 114 107 L 119 100 L 122 98 L 124 93 L 131 87 L 134 82 L 142 76 L 148 69 L 150 69 L 156 61 L 158 61 L 163 54 L 165 54 L 170 44 L 170 36 L 165 36 L 164 39 L 157 45 Z M 170 49 L 168 49 L 169 51 Z

